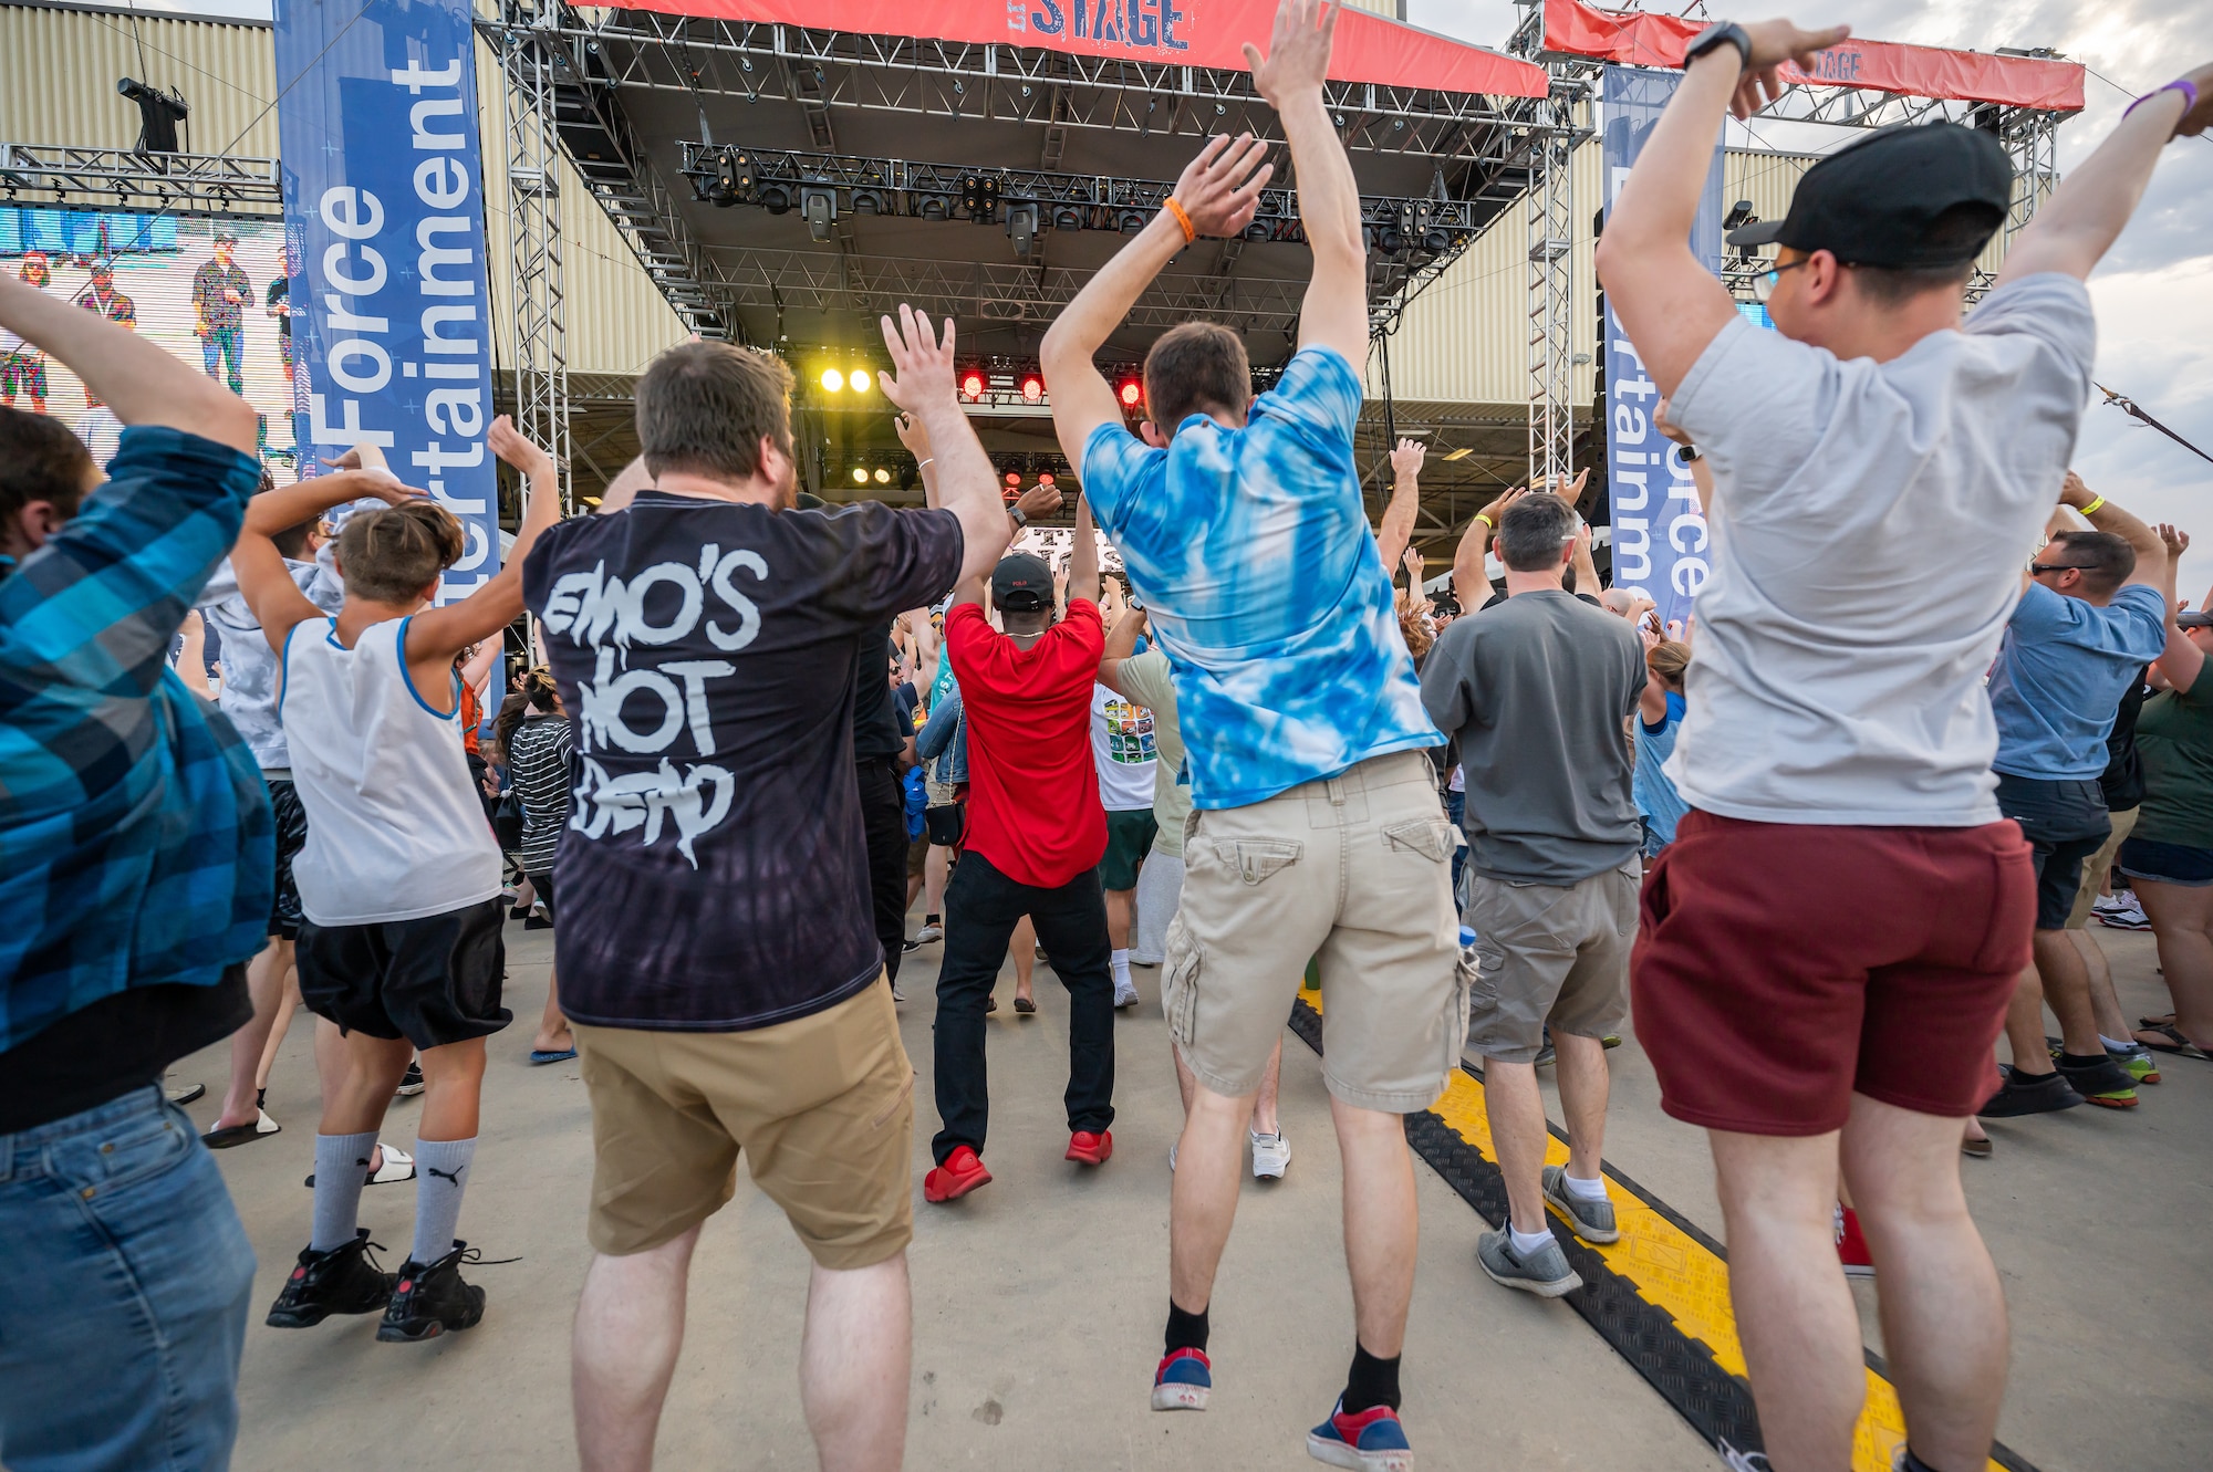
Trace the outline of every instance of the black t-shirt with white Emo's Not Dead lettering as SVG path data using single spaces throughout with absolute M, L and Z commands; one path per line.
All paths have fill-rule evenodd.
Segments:
M 575 727 L 553 862 L 562 1010 L 739 1032 L 883 970 L 852 780 L 856 663 L 960 570 L 949 511 L 642 491 L 549 528 L 522 599 Z

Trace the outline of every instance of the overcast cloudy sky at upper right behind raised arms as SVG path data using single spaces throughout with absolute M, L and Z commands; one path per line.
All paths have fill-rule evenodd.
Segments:
M 1759 18 L 1768 11 L 1737 7 L 1726 13 Z M 1775 13 L 1808 27 L 1843 22 L 1863 40 L 1983 51 L 2054 46 L 2087 64 L 2087 106 L 2058 135 L 2063 175 L 2096 148 L 2131 97 L 2213 60 L 2213 4 L 2206 0 L 1799 0 Z M 1507 0 L 1410 0 L 1407 20 L 1503 46 L 1516 7 Z M 1808 144 L 1793 137 L 1790 146 Z M 2098 382 L 2213 453 L 2213 135 L 2167 146 L 2142 208 L 2089 287 L 2098 305 Z M 2213 464 L 2096 396 L 2082 416 L 2076 469 L 2138 515 L 2173 522 L 2195 537 L 2182 559 L 2182 592 L 2202 599 L 2213 581 Z

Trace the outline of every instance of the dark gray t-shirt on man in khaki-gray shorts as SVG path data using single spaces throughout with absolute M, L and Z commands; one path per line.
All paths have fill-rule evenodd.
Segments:
M 1461 740 L 1476 873 L 1578 884 L 1638 855 L 1629 712 L 1644 645 L 1567 592 L 1454 619 L 1421 665 L 1421 703 Z

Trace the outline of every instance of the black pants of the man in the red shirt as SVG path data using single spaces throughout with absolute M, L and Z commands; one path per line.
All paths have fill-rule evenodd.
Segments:
M 1029 915 L 1053 972 L 1069 988 L 1069 1132 L 1113 1123 L 1113 977 L 1106 970 L 1106 897 L 1098 869 L 1060 889 L 1018 884 L 969 849 L 945 886 L 945 955 L 938 961 L 938 1165 L 958 1145 L 983 1154 L 991 1085 L 983 1063 L 983 1006 L 1007 959 L 1014 926 Z

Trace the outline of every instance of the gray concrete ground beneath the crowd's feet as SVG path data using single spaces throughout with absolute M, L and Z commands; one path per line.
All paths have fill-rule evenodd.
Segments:
M 2127 1012 L 2164 1010 L 2149 935 L 2100 930 Z M 259 1324 L 239 1386 L 248 1472 L 303 1465 L 573 1465 L 569 1324 L 589 1249 L 591 1116 L 573 1063 L 529 1068 L 551 935 L 509 926 L 509 1008 L 491 1041 L 482 1147 L 463 1236 L 487 1258 L 485 1324 L 427 1346 L 376 1344 L 367 1319 L 310 1331 Z M 1146 1386 L 1166 1306 L 1166 1149 L 1180 1127 L 1157 972 L 1118 1023 L 1115 1158 L 1067 1165 L 1060 1090 L 1067 997 L 1038 968 L 1040 1014 L 1018 1021 L 1011 968 L 991 1019 L 994 1185 L 956 1207 L 921 1205 L 936 946 L 907 957 L 901 1008 L 916 1087 L 914 1401 L 907 1465 L 1295 1468 L 1350 1359 L 1339 1163 L 1317 1059 L 1286 1032 L 1281 1182 L 1246 1182 L 1215 1295 L 1215 1406 L 1153 1415 Z M 1660 1114 L 1635 1041 L 1611 1054 L 1609 1160 L 1722 1236 L 1700 1132 Z M 212 1121 L 224 1052 L 181 1061 Z M 1549 1083 L 1547 1083 L 1549 1087 Z M 2005 1275 L 2014 1370 L 2001 1437 L 2045 1472 L 2204 1468 L 2213 1428 L 2209 1156 L 2213 1065 L 2167 1061 L 2131 1114 L 2074 1110 L 1992 1125 L 1992 1160 L 1967 1160 L 1976 1218 Z M 305 1242 L 316 1116 L 308 1019 L 268 1092 L 283 1134 L 217 1158 L 277 1295 Z M 385 1138 L 407 1147 L 418 1105 Z M 1558 1118 L 1554 1101 L 1554 1118 Z M 1427 1468 L 1713 1468 L 1717 1459 L 1571 1308 L 1507 1293 L 1474 1264 L 1480 1218 L 1416 1163 L 1421 1266 L 1405 1348 L 1405 1417 Z M 370 1187 L 363 1222 L 407 1251 L 414 1185 Z M 684 1361 L 662 1421 L 664 1468 L 810 1468 L 797 1399 L 806 1253 L 781 1213 L 739 1185 L 693 1266 Z M 1854 1289 L 1879 1346 L 1874 1289 Z M 2195 1452 L 2191 1448 L 2198 1448 Z

